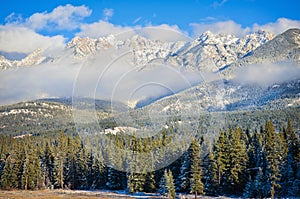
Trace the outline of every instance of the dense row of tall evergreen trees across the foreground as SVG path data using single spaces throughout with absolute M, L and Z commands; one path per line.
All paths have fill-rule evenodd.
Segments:
M 130 139 L 136 152 L 162 147 L 168 133 L 155 139 Z M 175 132 L 176 133 L 176 132 Z M 124 147 L 121 135 L 109 135 Z M 250 132 L 239 127 L 221 130 L 214 143 L 193 139 L 188 150 L 166 168 L 148 173 L 122 172 L 106 166 L 85 147 L 78 135 L 63 131 L 53 135 L 13 138 L 0 136 L 0 186 L 2 189 L 110 189 L 242 197 L 299 197 L 299 138 L 291 121 L 276 130 L 271 121 Z M 112 150 L 112 149 L 110 149 Z M 111 153 L 113 164 L 121 157 Z M 150 161 L 150 160 L 143 160 Z

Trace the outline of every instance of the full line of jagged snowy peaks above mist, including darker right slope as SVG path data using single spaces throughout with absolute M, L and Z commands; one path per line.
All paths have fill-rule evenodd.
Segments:
M 131 51 L 132 63 L 137 66 L 163 60 L 165 64 L 188 70 L 222 70 L 229 73 L 227 70 L 265 60 L 274 62 L 291 59 L 299 63 L 299 31 L 290 29 L 275 37 L 270 32 L 259 30 L 242 38 L 207 31 L 190 42 L 164 42 L 139 35 L 127 39 L 113 35 L 98 39 L 75 37 L 66 44 L 66 50 L 71 52 L 71 57 L 83 61 L 97 51 L 126 48 Z M 38 49 L 22 60 L 8 60 L 0 56 L 0 68 L 33 66 L 56 59 L 45 55 L 43 49 Z

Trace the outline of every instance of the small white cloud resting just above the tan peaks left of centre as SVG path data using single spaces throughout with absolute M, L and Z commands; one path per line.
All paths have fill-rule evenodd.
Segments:
M 92 24 L 82 24 L 81 31 L 77 33 L 77 36 L 99 38 L 108 36 L 111 34 L 119 34 L 121 32 L 131 31 L 129 26 L 119 26 L 109 23 L 107 21 L 100 20 Z

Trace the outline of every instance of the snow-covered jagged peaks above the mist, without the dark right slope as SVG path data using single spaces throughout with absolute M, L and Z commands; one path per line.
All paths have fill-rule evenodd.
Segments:
M 164 42 L 139 35 L 127 39 L 119 39 L 113 35 L 98 39 L 75 37 L 66 45 L 66 49 L 72 51 L 75 58 L 84 60 L 85 57 L 98 51 L 128 48 L 132 54 L 132 62 L 137 66 L 159 60 L 175 67 L 216 71 L 237 61 L 273 37 L 272 33 L 266 31 L 258 31 L 243 38 L 208 31 L 191 42 Z M 56 59 L 44 56 L 42 52 L 42 49 L 38 49 L 20 61 L 11 61 L 0 55 L 0 67 L 8 69 L 33 66 Z

